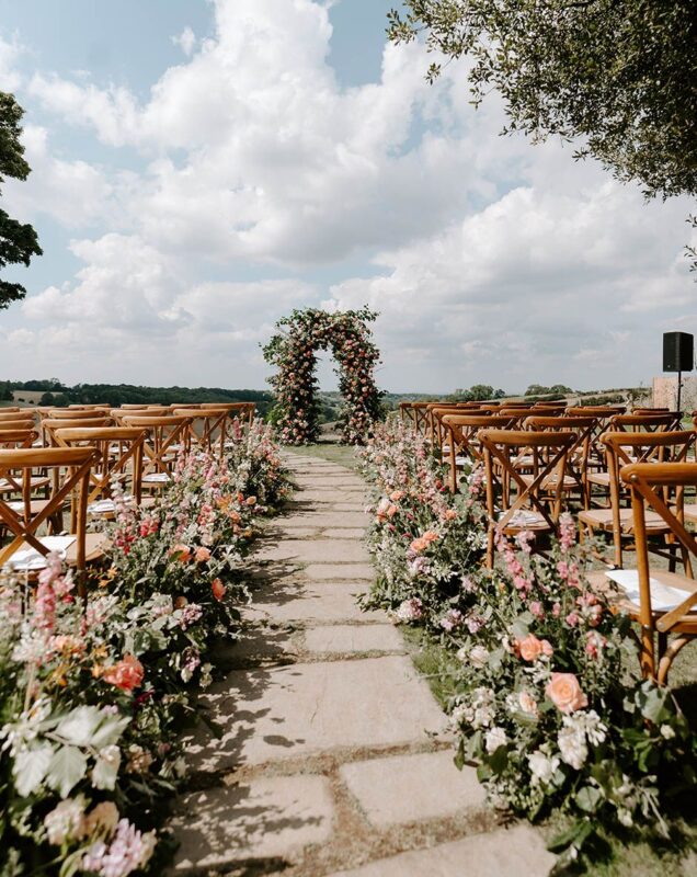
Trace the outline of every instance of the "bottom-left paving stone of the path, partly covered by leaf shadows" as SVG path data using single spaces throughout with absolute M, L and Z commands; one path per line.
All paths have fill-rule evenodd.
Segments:
M 173 870 L 206 872 L 240 859 L 293 858 L 332 831 L 333 802 L 322 776 L 254 779 L 197 791 L 175 805 L 181 846 Z

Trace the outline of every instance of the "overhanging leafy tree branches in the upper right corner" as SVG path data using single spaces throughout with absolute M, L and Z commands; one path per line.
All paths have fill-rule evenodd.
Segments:
M 509 123 L 534 140 L 580 143 L 648 196 L 697 193 L 695 0 L 403 0 L 395 42 L 425 34 L 469 56 L 475 104 L 496 89 Z M 441 73 L 431 65 L 430 80 Z

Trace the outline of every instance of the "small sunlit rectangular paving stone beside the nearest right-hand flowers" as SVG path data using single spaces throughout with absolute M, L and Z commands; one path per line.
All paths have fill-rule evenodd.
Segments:
M 484 789 L 473 767 L 458 771 L 453 751 L 344 764 L 341 776 L 378 828 L 481 808 Z

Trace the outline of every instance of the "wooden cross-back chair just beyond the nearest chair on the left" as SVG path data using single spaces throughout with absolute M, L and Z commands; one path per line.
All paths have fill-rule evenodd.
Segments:
M 112 483 L 118 479 L 136 504 L 142 492 L 142 456 L 146 431 L 138 426 L 84 426 L 59 429 L 56 442 L 64 447 L 91 446 L 95 459 L 90 472 L 88 512 L 113 516 Z

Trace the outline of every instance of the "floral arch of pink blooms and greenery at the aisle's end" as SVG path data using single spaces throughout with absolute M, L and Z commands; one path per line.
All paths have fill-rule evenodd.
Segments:
M 294 310 L 276 323 L 278 332 L 264 346 L 264 358 L 278 368 L 270 378 L 276 392 L 273 417 L 286 444 L 302 445 L 319 438 L 315 368 L 320 350 L 331 351 L 336 361 L 339 391 L 344 399 L 343 441 L 363 442 L 380 411 L 380 392 L 374 378 L 380 352 L 369 327 L 377 316 L 367 307 L 336 314 L 307 308 Z

